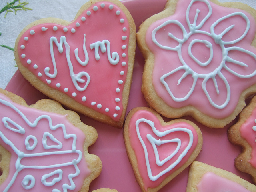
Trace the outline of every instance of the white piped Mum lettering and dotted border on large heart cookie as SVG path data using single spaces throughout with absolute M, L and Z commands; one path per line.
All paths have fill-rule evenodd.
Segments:
M 126 20 L 125 20 L 125 18 L 122 18 L 121 12 L 120 12 L 120 10 L 118 10 L 119 9 L 118 7 L 116 7 L 117 10 L 115 10 L 114 6 L 112 4 L 106 6 L 105 3 L 101 3 L 99 6 L 98 5 L 93 6 L 92 7 L 93 11 L 87 11 L 86 14 L 83 14 L 83 16 L 80 18 L 80 21 L 75 23 L 76 28 L 68 28 L 68 27 L 61 26 L 61 25 L 54 25 L 54 26 L 52 26 L 52 30 L 54 30 L 54 31 L 62 30 L 62 32 L 65 32 L 67 34 L 70 33 L 70 32 L 72 34 L 74 34 L 76 32 L 76 30 L 81 28 L 82 24 L 86 24 L 86 22 L 85 22 L 86 19 L 88 20 L 92 14 L 94 14 L 95 12 L 99 12 L 100 10 L 104 9 L 105 7 L 108 8 L 109 10 L 114 10 L 113 14 L 115 14 L 116 17 L 119 16 L 119 18 L 118 17 L 117 18 L 118 18 L 118 21 L 119 21 L 120 24 L 126 23 Z M 46 28 L 46 26 L 42 26 L 41 30 L 42 30 L 42 32 L 47 33 L 47 32 L 51 31 L 48 28 Z M 129 34 L 127 33 L 127 28 L 126 27 L 120 27 L 120 29 L 121 29 L 121 32 L 124 33 L 124 35 L 122 35 L 122 40 L 125 41 L 127 39 L 127 37 L 129 36 Z M 34 34 L 34 32 L 32 32 L 32 31 L 34 31 L 34 30 L 30 30 L 30 35 Z M 24 40 L 28 41 L 29 37 L 25 37 Z M 84 52 L 85 59 L 82 61 L 80 59 L 80 57 L 78 56 L 78 48 L 76 48 L 73 53 L 75 54 L 76 61 L 80 65 L 86 66 L 89 62 L 89 56 L 88 56 L 88 52 L 87 52 L 87 49 L 86 49 L 86 47 L 87 47 L 86 46 L 86 34 L 84 34 L 84 38 L 82 40 L 83 40 L 82 52 Z M 49 43 L 50 43 L 50 54 L 51 54 L 51 58 L 52 58 L 52 66 L 48 66 L 48 67 L 44 68 L 43 72 L 39 72 L 39 71 L 36 72 L 38 77 L 41 78 L 41 77 L 43 77 L 43 74 L 45 74 L 48 77 L 47 79 L 45 79 L 47 84 L 51 84 L 52 83 L 51 79 L 54 79 L 54 78 L 57 77 L 58 70 L 57 70 L 56 58 L 55 58 L 55 54 L 54 54 L 54 52 L 56 51 L 56 52 L 59 52 L 60 54 L 65 54 L 66 55 L 67 62 L 68 62 L 68 67 L 69 67 L 69 70 L 70 70 L 70 77 L 72 79 L 72 82 L 73 82 L 76 90 L 78 92 L 85 91 L 87 86 L 90 84 L 91 77 L 86 71 L 81 71 L 78 74 L 74 74 L 73 63 L 70 59 L 70 52 L 71 52 L 70 49 L 71 48 L 70 48 L 70 45 L 68 44 L 68 39 L 66 38 L 66 36 L 62 35 L 60 38 L 52 36 L 50 38 Z M 56 46 L 57 46 L 57 48 L 56 48 Z M 122 50 L 127 49 L 127 44 L 122 44 L 120 46 L 121 46 Z M 100 52 L 102 52 L 102 53 L 106 52 L 107 57 L 108 57 L 108 61 L 110 62 L 110 64 L 112 64 L 112 65 L 121 64 L 123 67 L 126 66 L 125 61 L 122 61 L 121 63 L 119 63 L 122 58 L 127 57 L 126 53 L 122 53 L 122 57 L 120 58 L 120 56 L 117 52 L 114 52 L 114 51 L 111 50 L 111 44 L 108 40 L 102 40 L 102 41 L 97 41 L 95 43 L 91 43 L 89 47 L 90 47 L 91 50 L 94 50 L 95 59 L 97 61 L 100 60 Z M 24 45 L 21 47 L 21 49 L 24 50 L 24 51 L 26 50 Z M 21 57 L 25 58 L 26 55 L 21 54 Z M 91 59 L 93 59 L 93 58 L 91 58 Z M 29 63 L 33 64 L 33 62 L 31 62 L 31 60 L 29 58 L 28 58 L 28 61 L 29 61 Z M 33 64 L 33 65 L 34 65 L 34 69 L 39 70 L 37 64 Z M 50 68 L 52 68 L 52 67 L 53 67 L 53 69 L 50 70 Z M 86 70 L 86 68 L 85 68 L 85 70 Z M 119 73 L 120 73 L 121 76 L 124 76 L 124 74 L 125 74 L 125 72 L 123 70 L 120 71 Z M 117 82 L 117 87 L 114 90 L 116 93 L 121 94 L 121 90 L 118 87 L 118 85 L 123 84 L 124 81 L 125 81 L 125 79 L 122 79 L 122 77 L 120 77 L 120 79 Z M 60 85 L 62 83 L 61 82 L 56 82 L 54 84 L 55 84 L 55 87 L 60 88 Z M 81 84 L 83 84 L 84 86 L 81 86 Z M 73 90 L 71 88 L 68 88 L 68 87 L 65 87 L 65 88 L 63 87 L 63 89 L 62 89 L 62 91 L 66 92 L 66 93 L 68 93 L 69 90 L 72 90 L 72 92 L 70 93 L 72 97 L 78 98 L 78 94 L 76 92 L 74 92 L 75 90 Z M 88 98 L 86 97 L 86 92 L 83 96 L 79 96 L 79 98 L 80 98 L 81 102 L 89 102 L 90 106 L 97 106 L 96 103 L 94 104 L 94 102 L 88 101 Z M 122 98 L 122 96 L 120 96 L 120 98 Z M 120 104 L 122 104 L 122 102 L 120 102 Z M 100 109 L 102 107 L 100 107 L 100 108 L 97 107 L 97 108 Z M 116 108 L 120 108 L 120 106 L 114 106 L 114 109 L 116 109 Z M 110 107 L 107 107 L 107 108 L 104 108 L 104 109 L 105 109 L 104 110 L 105 112 L 110 111 Z M 113 117 L 117 117 L 117 116 L 118 116 L 118 114 L 113 114 Z

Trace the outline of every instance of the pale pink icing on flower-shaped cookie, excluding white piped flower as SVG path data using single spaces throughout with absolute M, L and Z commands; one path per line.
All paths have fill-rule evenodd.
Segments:
M 177 3 L 174 15 L 168 18 L 158 20 L 148 28 L 148 31 L 146 34 L 146 43 L 150 51 L 154 53 L 154 57 L 155 57 L 154 69 L 152 72 L 154 88 L 158 96 L 160 96 L 160 98 L 162 98 L 164 102 L 166 102 L 169 106 L 172 106 L 174 108 L 180 108 L 183 106 L 192 105 L 192 106 L 195 106 L 202 113 L 207 114 L 211 117 L 225 118 L 229 116 L 236 108 L 240 94 L 245 89 L 255 84 L 256 82 L 255 76 L 251 78 L 239 78 L 238 76 L 230 73 L 228 70 L 226 70 L 226 68 L 223 67 L 220 72 L 224 76 L 224 78 L 226 78 L 226 81 L 230 86 L 231 94 L 230 94 L 230 100 L 228 104 L 222 109 L 218 109 L 210 104 L 201 86 L 203 82 L 203 78 L 198 78 L 194 91 L 188 97 L 188 99 L 182 102 L 174 101 L 166 91 L 166 88 L 164 87 L 164 85 L 160 82 L 161 76 L 182 66 L 182 64 L 180 62 L 180 59 L 176 51 L 161 49 L 160 47 L 158 47 L 156 44 L 152 42 L 152 36 L 151 36 L 152 31 L 156 27 L 160 26 L 162 23 L 166 22 L 167 20 L 177 20 L 184 26 L 184 29 L 186 30 L 186 32 L 189 33 L 190 30 L 188 28 L 188 24 L 186 21 L 186 10 L 188 8 L 189 3 L 190 3 L 190 0 L 179 0 Z M 255 35 L 254 18 L 252 18 L 250 14 L 246 13 L 243 10 L 238 10 L 234 8 L 224 8 L 222 6 L 213 4 L 210 1 L 209 3 L 210 3 L 210 6 L 212 7 L 212 15 L 206 20 L 206 22 L 202 25 L 202 27 L 199 30 L 210 33 L 210 26 L 214 22 L 216 22 L 219 18 L 227 16 L 228 14 L 231 14 L 233 12 L 242 12 L 250 20 L 250 29 L 246 34 L 246 36 L 242 38 L 242 40 L 231 45 L 225 45 L 225 47 L 237 46 L 245 50 L 251 51 L 255 54 L 256 49 L 250 46 Z M 204 19 L 204 17 L 208 14 L 209 9 L 206 6 L 206 4 L 202 2 L 194 2 L 189 11 L 190 23 L 193 23 L 197 8 L 200 10 L 200 13 L 198 14 L 197 24 L 201 22 Z M 241 16 L 232 16 L 230 18 L 223 20 L 222 22 L 216 25 L 216 27 L 214 28 L 214 32 L 215 34 L 220 34 L 225 28 L 228 28 L 233 24 L 234 24 L 234 28 L 232 28 L 224 36 L 222 36 L 222 40 L 223 41 L 235 40 L 240 36 L 242 36 L 246 28 L 246 22 Z M 168 33 L 173 34 L 176 38 L 183 39 L 183 35 L 182 35 L 183 32 L 181 28 L 176 24 L 169 24 L 169 25 L 166 25 L 164 28 L 160 29 L 156 33 L 156 40 L 161 45 L 169 46 L 171 48 L 178 46 L 178 42 L 168 37 Z M 190 42 L 192 42 L 192 40 L 194 39 L 207 40 L 213 46 L 212 47 L 213 58 L 210 64 L 208 64 L 207 66 L 202 67 L 198 65 L 195 62 L 195 60 L 193 60 L 193 58 L 188 55 L 188 46 Z M 195 43 L 192 46 L 191 50 L 195 58 L 197 58 L 201 62 L 205 62 L 210 57 L 210 48 L 207 48 L 206 44 L 204 43 Z M 186 64 L 190 67 L 190 69 L 198 74 L 208 74 L 210 72 L 213 72 L 214 69 L 220 66 L 220 63 L 222 61 L 222 49 L 220 45 L 216 44 L 214 42 L 214 39 L 211 36 L 200 34 L 200 33 L 193 34 L 188 38 L 188 40 L 182 45 L 181 55 L 184 62 L 186 62 Z M 243 51 L 232 50 L 228 52 L 228 56 L 234 60 L 244 62 L 246 65 L 248 65 L 247 67 L 242 67 L 238 64 L 234 64 L 232 62 L 226 61 L 226 66 L 230 68 L 230 70 L 232 70 L 233 72 L 236 72 L 241 75 L 248 75 L 248 74 L 251 74 L 256 69 L 255 58 L 253 58 L 252 56 L 249 56 L 248 54 L 245 54 Z M 180 84 L 177 85 L 178 80 L 182 77 L 184 72 L 185 70 L 179 70 L 165 79 L 170 90 L 172 91 L 172 93 L 176 98 L 183 98 L 184 96 L 186 96 L 186 94 L 188 94 L 188 92 L 192 88 L 193 78 L 191 74 L 188 74 L 185 78 L 182 79 Z M 220 78 L 220 76 L 218 75 L 216 75 L 216 83 L 218 86 L 219 94 L 216 92 L 214 81 L 211 78 L 206 82 L 206 90 L 210 98 L 212 99 L 212 101 L 217 105 L 221 105 L 225 102 L 228 91 L 223 78 Z

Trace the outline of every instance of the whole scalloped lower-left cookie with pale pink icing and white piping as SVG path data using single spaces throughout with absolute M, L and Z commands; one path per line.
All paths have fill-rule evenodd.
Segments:
M 98 134 L 78 114 L 0 90 L 0 116 L 0 191 L 88 192 L 102 162 L 88 153 Z

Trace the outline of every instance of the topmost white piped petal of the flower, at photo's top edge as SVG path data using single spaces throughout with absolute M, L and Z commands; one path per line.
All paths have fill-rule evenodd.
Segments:
M 206 4 L 206 6 L 208 7 L 208 14 L 200 21 L 200 23 L 199 24 L 197 24 L 198 23 L 198 15 L 200 14 L 200 9 L 199 8 L 197 8 L 196 9 L 196 14 L 195 14 L 195 16 L 194 16 L 194 18 L 193 18 L 193 21 L 192 22 L 190 22 L 190 19 L 189 19 L 189 15 L 190 15 L 190 12 L 191 12 L 191 7 L 194 5 L 194 3 L 195 2 L 203 2 L 203 3 L 205 3 Z M 187 8 L 187 11 L 186 11 L 186 21 L 187 21 L 187 24 L 188 24 L 188 26 L 189 26 L 189 28 L 190 28 L 190 31 L 191 30 L 198 30 L 198 29 L 200 29 L 203 25 L 204 25 L 204 23 L 206 22 L 206 20 L 210 17 L 212 15 L 212 7 L 211 7 L 211 5 L 210 5 L 210 3 L 208 2 L 208 1 L 206 1 L 206 0 L 192 0 L 191 2 L 190 2 L 190 4 L 189 4 L 189 6 L 188 6 L 188 8 Z M 197 25 L 196 25 L 197 24 Z

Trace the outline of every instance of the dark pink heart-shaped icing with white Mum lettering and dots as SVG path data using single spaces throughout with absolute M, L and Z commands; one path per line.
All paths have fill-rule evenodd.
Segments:
M 97 2 L 68 26 L 46 23 L 28 29 L 18 54 L 42 82 L 118 121 L 129 34 L 124 12 L 111 2 Z

